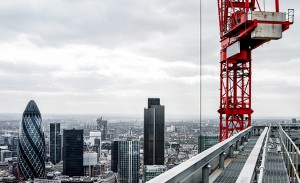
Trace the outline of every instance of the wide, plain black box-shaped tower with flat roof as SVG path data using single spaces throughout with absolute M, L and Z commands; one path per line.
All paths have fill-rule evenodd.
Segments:
M 83 176 L 83 130 L 63 130 L 63 174 Z

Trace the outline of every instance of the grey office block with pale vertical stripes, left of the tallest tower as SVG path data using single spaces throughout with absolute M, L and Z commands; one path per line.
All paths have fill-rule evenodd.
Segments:
M 120 183 L 138 183 L 140 167 L 139 141 L 118 141 L 118 174 Z

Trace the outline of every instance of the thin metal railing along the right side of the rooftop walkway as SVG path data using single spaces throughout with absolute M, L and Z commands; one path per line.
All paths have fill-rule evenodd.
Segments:
M 279 138 L 281 146 L 283 147 L 283 159 L 287 168 L 290 182 L 299 183 L 298 163 L 300 151 L 290 136 L 283 130 L 279 124 Z

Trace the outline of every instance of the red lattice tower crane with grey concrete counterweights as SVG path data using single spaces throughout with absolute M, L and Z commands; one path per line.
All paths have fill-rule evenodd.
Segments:
M 220 142 L 251 126 L 251 52 L 282 37 L 294 10 L 262 11 L 258 0 L 217 0 L 220 25 Z M 258 7 L 258 9 L 256 8 Z

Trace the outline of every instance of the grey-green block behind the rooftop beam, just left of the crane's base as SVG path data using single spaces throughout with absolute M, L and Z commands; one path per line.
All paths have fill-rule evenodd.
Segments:
M 198 137 L 198 153 L 219 143 L 219 135 L 200 135 Z

